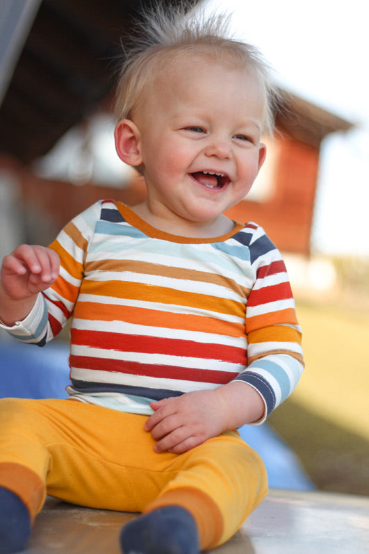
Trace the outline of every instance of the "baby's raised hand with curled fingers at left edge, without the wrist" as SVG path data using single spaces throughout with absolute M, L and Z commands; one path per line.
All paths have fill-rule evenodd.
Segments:
M 10 300 L 24 300 L 46 288 L 58 277 L 59 256 L 44 246 L 21 245 L 5 256 L 1 286 Z

